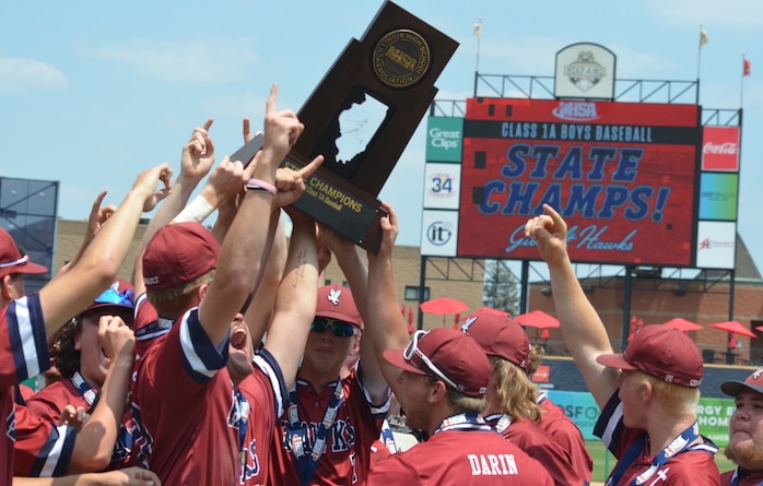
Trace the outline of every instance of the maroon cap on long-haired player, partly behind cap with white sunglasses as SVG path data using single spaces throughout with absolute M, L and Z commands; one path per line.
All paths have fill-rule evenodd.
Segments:
M 482 346 L 486 355 L 504 358 L 527 372 L 530 340 L 514 319 L 478 310 L 467 317 L 461 331 Z

